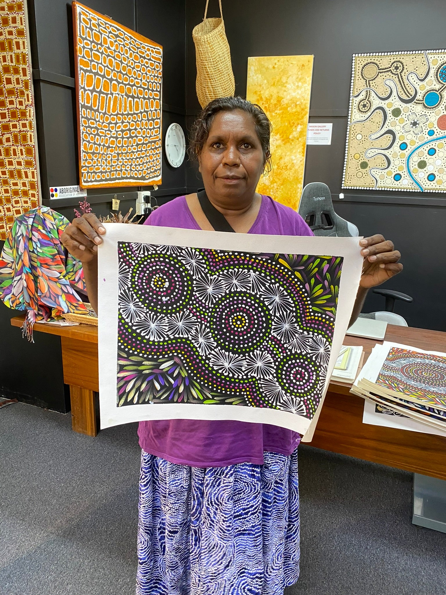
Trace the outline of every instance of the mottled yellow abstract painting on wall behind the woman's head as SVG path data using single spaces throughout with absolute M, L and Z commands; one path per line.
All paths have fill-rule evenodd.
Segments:
M 313 56 L 248 58 L 246 98 L 272 123 L 273 170 L 257 192 L 298 208 L 303 186 Z

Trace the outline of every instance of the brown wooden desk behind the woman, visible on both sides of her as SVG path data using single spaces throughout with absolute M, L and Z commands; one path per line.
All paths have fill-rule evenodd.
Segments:
M 12 318 L 21 327 L 24 317 Z M 59 327 L 36 322 L 34 331 L 61 337 L 64 381 L 70 385 L 73 430 L 96 436 L 95 392 L 98 392 L 98 328 L 81 324 Z M 446 333 L 388 325 L 387 341 L 446 352 Z M 346 337 L 346 345 L 363 345 L 365 358 L 376 342 Z M 446 438 L 362 423 L 364 401 L 348 387 L 331 382 L 310 443 L 321 449 L 365 461 L 446 480 Z

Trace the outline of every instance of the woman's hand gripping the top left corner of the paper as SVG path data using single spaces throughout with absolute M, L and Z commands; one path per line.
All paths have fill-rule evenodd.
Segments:
M 61 236 L 61 243 L 83 265 L 98 259 L 98 245 L 102 244 L 105 227 L 94 213 L 86 213 L 73 220 Z

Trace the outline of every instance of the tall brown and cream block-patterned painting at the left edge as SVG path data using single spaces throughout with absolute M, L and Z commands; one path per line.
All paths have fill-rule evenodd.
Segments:
M 26 4 L 0 2 L 0 240 L 39 204 Z

